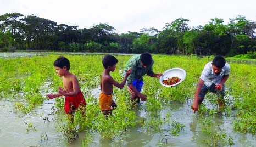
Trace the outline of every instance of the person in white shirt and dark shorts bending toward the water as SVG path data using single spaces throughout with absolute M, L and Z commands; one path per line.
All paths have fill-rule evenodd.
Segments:
M 194 112 L 198 110 L 198 105 L 202 104 L 205 94 L 209 91 L 216 93 L 218 96 L 219 108 L 223 105 L 225 95 L 225 85 L 230 74 L 230 65 L 222 56 L 216 56 L 212 62 L 204 66 L 200 79 L 198 81 L 196 92 L 194 93 L 194 101 L 192 109 Z M 220 98 L 221 97 L 221 98 Z

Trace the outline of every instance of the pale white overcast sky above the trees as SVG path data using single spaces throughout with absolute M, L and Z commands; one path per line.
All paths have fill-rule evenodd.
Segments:
M 219 18 L 224 24 L 238 15 L 256 21 L 255 0 L 0 0 L 0 15 L 36 15 L 57 24 L 90 28 L 99 23 L 116 33 L 163 30 L 177 18 L 189 19 L 189 27 L 204 26 Z

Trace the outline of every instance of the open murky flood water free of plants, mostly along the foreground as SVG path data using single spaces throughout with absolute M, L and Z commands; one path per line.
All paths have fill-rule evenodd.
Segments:
M 19 55 L 24 56 L 24 54 Z M 51 81 L 48 81 L 45 86 L 50 83 Z M 91 94 L 95 99 L 98 99 L 99 91 L 99 88 L 92 89 Z M 41 94 L 45 95 L 44 93 Z M 19 93 L 0 98 L 0 146 L 82 146 L 85 132 L 78 132 L 79 138 L 72 143 L 68 143 L 59 130 L 58 125 L 62 122 L 59 120 L 63 118 L 63 115 L 53 112 L 55 99 L 44 101 L 30 114 L 21 114 L 15 111 L 14 105 L 17 101 L 22 101 L 22 97 L 22 93 Z M 173 120 L 185 125 L 179 136 L 171 136 L 168 132 L 168 126 L 164 126 L 164 131 L 160 133 L 154 131 L 145 133 L 141 128 L 135 127 L 130 128 L 130 131 L 120 138 L 122 142 L 112 142 L 96 135 L 90 146 L 207 146 L 209 137 L 202 132 L 202 115 L 199 116 L 197 113 L 193 113 L 191 99 L 187 100 L 185 104 L 174 103 L 171 107 L 165 107 L 160 112 L 162 116 L 171 112 Z M 142 101 L 139 106 L 143 108 L 144 103 Z M 204 103 L 207 103 L 207 100 Z M 135 111 L 138 117 L 147 117 L 148 115 L 143 109 L 136 109 Z M 218 132 L 226 132 L 227 136 L 232 137 L 234 143 L 232 146 L 255 146 L 255 135 L 233 131 L 232 121 L 234 119 L 233 116 L 225 115 L 211 117 L 213 121 L 212 129 Z M 27 125 L 29 123 L 32 124 L 31 128 Z

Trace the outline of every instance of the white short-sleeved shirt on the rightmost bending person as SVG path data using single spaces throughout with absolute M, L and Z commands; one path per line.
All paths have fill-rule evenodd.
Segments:
M 220 73 L 217 75 L 217 74 L 214 74 L 213 72 L 212 62 L 209 62 L 204 66 L 204 69 L 202 71 L 200 78 L 204 81 L 204 84 L 207 87 L 210 87 L 213 83 L 219 84 L 222 76 L 229 75 L 229 74 L 230 74 L 230 66 L 228 63 L 225 64 L 225 66 L 221 69 Z

